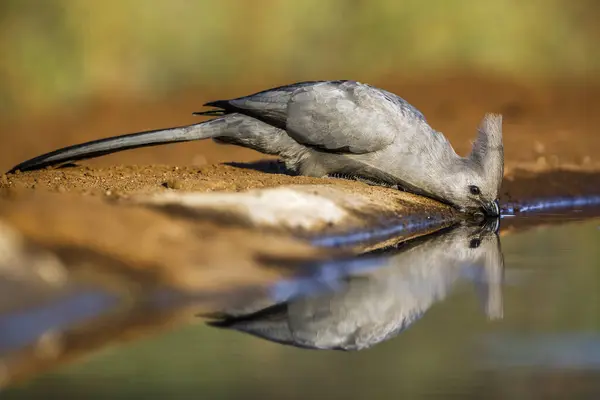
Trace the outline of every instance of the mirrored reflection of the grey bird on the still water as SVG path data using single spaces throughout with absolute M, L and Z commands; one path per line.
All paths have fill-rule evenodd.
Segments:
M 270 296 L 212 314 L 208 323 L 301 348 L 362 350 L 409 328 L 461 281 L 475 285 L 489 318 L 501 318 L 497 224 L 465 224 L 318 266 L 308 277 L 280 282 Z

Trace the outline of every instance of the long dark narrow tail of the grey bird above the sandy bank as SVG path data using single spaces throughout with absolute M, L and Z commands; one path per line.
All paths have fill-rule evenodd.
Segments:
M 215 129 L 212 129 L 212 127 L 215 123 L 220 122 L 220 120 L 222 120 L 222 118 L 213 119 L 194 125 L 131 133 L 64 147 L 50 153 L 42 154 L 38 157 L 32 158 L 31 160 L 24 161 L 13 167 L 9 173 L 13 173 L 17 170 L 36 170 L 71 161 L 85 160 L 103 156 L 105 154 L 136 149 L 139 147 L 158 146 L 167 143 L 206 139 L 212 137 L 212 135 L 215 133 Z

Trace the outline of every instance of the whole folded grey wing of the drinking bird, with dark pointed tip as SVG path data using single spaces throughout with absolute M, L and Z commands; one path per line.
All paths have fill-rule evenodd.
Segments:
M 302 82 L 233 100 L 208 103 L 285 129 L 323 151 L 369 153 L 423 115 L 402 98 L 354 81 Z

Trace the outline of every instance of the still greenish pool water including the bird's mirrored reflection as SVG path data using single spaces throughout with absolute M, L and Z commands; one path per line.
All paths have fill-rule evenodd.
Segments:
M 515 217 L 500 240 L 463 227 L 315 266 L 216 308 L 223 328 L 199 318 L 103 347 L 2 396 L 597 398 L 600 220 L 567 223 L 577 217 Z

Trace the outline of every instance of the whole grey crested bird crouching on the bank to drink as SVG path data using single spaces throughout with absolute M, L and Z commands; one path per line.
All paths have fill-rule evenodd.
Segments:
M 404 99 L 355 81 L 313 81 L 205 104 L 216 116 L 189 126 L 116 136 L 59 149 L 15 166 L 27 171 L 117 151 L 212 138 L 277 155 L 301 175 L 344 176 L 498 215 L 502 117 L 486 114 L 461 157 Z

